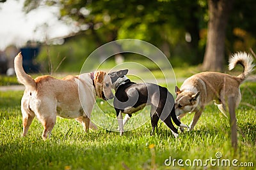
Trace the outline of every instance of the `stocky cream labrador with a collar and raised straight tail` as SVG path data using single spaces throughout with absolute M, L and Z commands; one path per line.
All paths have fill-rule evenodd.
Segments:
M 79 76 L 67 76 L 61 80 L 52 76 L 31 78 L 22 67 L 22 55 L 14 60 L 15 73 L 26 89 L 21 99 L 23 136 L 28 132 L 33 118 L 42 123 L 43 139 L 50 138 L 56 117 L 76 118 L 87 132 L 89 127 L 97 129 L 90 123 L 96 96 L 113 99 L 111 78 L 103 71 L 84 73 Z

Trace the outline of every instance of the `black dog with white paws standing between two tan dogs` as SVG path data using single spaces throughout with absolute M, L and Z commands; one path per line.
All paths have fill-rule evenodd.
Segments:
M 128 70 L 120 70 L 109 73 L 112 88 L 115 89 L 114 107 L 118 120 L 120 135 L 124 132 L 124 124 L 131 118 L 132 113 L 142 110 L 146 105 L 151 106 L 151 125 L 154 134 L 159 118 L 171 129 L 175 138 L 178 130 L 172 124 L 179 127 L 187 127 L 181 124 L 175 115 L 174 99 L 165 87 L 153 83 L 134 83 L 125 76 Z M 122 113 L 127 114 L 123 122 Z M 172 119 L 171 119 L 172 117 Z

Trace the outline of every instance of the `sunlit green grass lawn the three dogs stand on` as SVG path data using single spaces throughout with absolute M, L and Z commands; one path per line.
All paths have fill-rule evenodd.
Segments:
M 173 138 L 170 130 L 159 122 L 159 130 L 150 136 L 150 121 L 124 136 L 106 129 L 83 132 L 75 120 L 58 118 L 52 136 L 43 141 L 42 125 L 35 118 L 26 138 L 21 138 L 22 115 L 20 99 L 23 92 L 0 92 L 0 168 L 1 169 L 205 169 L 205 167 L 164 166 L 164 160 L 173 159 L 237 159 L 253 162 L 256 166 L 256 84 L 244 83 L 241 87 L 242 104 L 236 110 L 239 131 L 238 149 L 234 153 L 230 145 L 228 119 L 216 106 L 206 107 L 196 124 L 195 131 L 180 133 Z M 108 103 L 97 100 L 100 108 L 115 117 Z M 149 112 L 146 109 L 146 113 Z M 99 114 L 93 110 L 93 115 Z M 146 114 L 147 115 L 147 114 Z M 182 122 L 189 124 L 193 115 Z M 132 120 L 132 119 L 131 119 Z M 106 121 L 106 124 L 108 122 Z M 117 127 L 117 123 L 116 123 Z M 220 160 L 221 160 L 220 159 Z M 184 164 L 184 162 L 183 162 Z M 207 169 L 243 169 L 243 167 L 210 166 Z M 253 167 L 248 167 L 253 169 Z

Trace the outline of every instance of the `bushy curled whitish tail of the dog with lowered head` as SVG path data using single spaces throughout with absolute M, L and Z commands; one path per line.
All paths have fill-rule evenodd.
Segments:
M 241 78 L 242 81 L 244 81 L 249 76 L 249 74 L 252 73 L 253 67 L 255 66 L 255 64 L 253 64 L 253 58 L 249 53 L 237 52 L 229 59 L 228 69 L 234 69 L 237 64 L 241 64 L 244 67 L 243 73 L 237 76 L 238 78 Z

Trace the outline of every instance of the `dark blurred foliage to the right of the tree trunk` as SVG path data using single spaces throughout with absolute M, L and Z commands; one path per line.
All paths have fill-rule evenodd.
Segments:
M 234 1 L 230 20 L 227 24 L 228 41 L 226 46 L 228 53 L 236 51 L 250 52 L 250 48 L 255 51 L 256 34 L 253 27 L 256 26 L 256 19 L 252 12 L 255 10 L 255 1 Z

